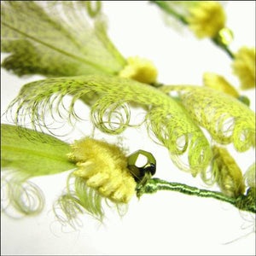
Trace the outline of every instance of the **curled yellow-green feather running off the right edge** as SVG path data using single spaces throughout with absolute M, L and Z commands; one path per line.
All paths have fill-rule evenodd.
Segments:
M 255 113 L 236 98 L 193 85 L 168 85 L 160 90 L 170 95 L 178 91 L 190 116 L 217 143 L 233 143 L 239 152 L 255 147 Z

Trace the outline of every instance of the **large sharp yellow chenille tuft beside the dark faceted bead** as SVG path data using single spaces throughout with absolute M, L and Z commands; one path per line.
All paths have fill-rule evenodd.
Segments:
M 68 154 L 79 169 L 73 172 L 83 177 L 87 186 L 116 203 L 127 203 L 135 194 L 137 183 L 127 169 L 127 157 L 120 148 L 85 137 L 75 141 Z

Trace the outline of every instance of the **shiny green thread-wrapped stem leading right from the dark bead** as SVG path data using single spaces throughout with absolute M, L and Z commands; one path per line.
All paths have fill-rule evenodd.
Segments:
M 242 211 L 256 212 L 255 199 L 251 195 L 251 189 L 247 190 L 247 195 L 241 195 L 237 198 L 226 196 L 217 191 L 211 191 L 207 189 L 198 189 L 190 187 L 183 183 L 169 183 L 160 178 L 154 177 L 148 181 L 143 187 L 141 194 L 154 194 L 158 190 L 171 190 L 177 191 L 186 195 L 196 195 L 200 197 L 212 197 L 219 201 L 229 202 L 233 206 L 239 208 Z

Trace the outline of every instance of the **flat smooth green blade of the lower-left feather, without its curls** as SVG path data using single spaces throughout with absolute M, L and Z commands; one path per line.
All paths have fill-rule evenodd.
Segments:
M 67 159 L 69 144 L 47 134 L 14 125 L 1 125 L 1 166 L 26 177 L 75 168 Z

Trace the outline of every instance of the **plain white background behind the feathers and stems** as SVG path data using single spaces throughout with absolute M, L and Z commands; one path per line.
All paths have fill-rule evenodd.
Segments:
M 237 1 L 224 3 L 227 26 L 235 34 L 230 48 L 237 51 L 242 45 L 255 44 L 255 3 Z M 125 57 L 140 55 L 154 61 L 159 81 L 165 84 L 202 84 L 202 74 L 224 75 L 239 87 L 232 74 L 230 57 L 210 40 L 197 40 L 187 28 L 174 30 L 166 26 L 159 9 L 148 2 L 104 2 L 103 11 L 109 19 L 109 36 Z M 182 28 L 182 26 L 181 26 Z M 23 84 L 39 79 L 17 78 L 1 69 L 2 112 L 17 95 Z M 255 109 L 254 90 L 242 91 L 251 99 Z M 81 105 L 81 108 L 82 107 Z M 88 112 L 87 108 L 84 111 Z M 3 119 L 3 122 L 4 119 Z M 78 125 L 67 139 L 90 135 L 88 122 Z M 106 137 L 97 133 L 98 137 Z M 157 160 L 156 177 L 203 187 L 200 177 L 177 170 L 172 165 L 166 148 L 152 143 L 143 129 L 128 129 L 125 146 L 131 152 L 141 148 L 152 152 Z M 110 138 L 113 139 L 113 138 Z M 254 161 L 254 151 L 237 154 L 230 145 L 242 172 Z M 51 206 L 64 189 L 67 173 L 52 177 L 38 177 L 33 181 L 43 189 L 46 205 L 38 217 L 15 220 L 1 217 L 1 253 L 23 255 L 68 254 L 187 254 L 187 255 L 253 255 L 255 233 L 253 215 L 241 214 L 236 208 L 216 200 L 158 192 L 133 198 L 129 211 L 119 218 L 115 211 L 106 209 L 106 220 L 99 224 L 90 216 L 80 219 L 79 230 L 61 230 L 55 222 Z M 213 188 L 215 189 L 215 188 Z M 243 229 L 244 225 L 249 225 Z M 250 233 L 245 237 L 246 234 Z M 236 238 L 241 237 L 237 241 Z M 229 244 L 226 242 L 233 241 Z

